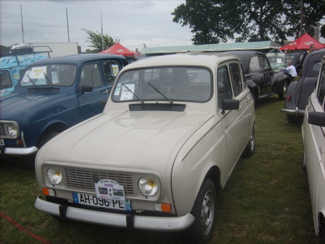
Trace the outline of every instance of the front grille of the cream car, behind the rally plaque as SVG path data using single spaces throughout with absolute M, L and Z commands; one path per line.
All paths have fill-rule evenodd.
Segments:
M 124 186 L 125 195 L 136 195 L 135 176 L 133 174 L 74 168 L 63 168 L 62 174 L 64 186 L 68 188 L 95 192 L 94 183 L 100 179 L 112 179 Z

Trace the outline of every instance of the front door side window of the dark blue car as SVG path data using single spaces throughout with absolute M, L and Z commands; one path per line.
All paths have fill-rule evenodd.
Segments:
M 102 85 L 103 82 L 98 64 L 88 64 L 82 67 L 79 88 L 81 86 L 96 88 Z

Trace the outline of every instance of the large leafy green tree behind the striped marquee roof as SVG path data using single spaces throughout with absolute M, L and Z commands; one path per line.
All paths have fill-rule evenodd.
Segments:
M 322 18 L 324 2 L 305 0 L 305 32 Z M 192 29 L 194 44 L 229 39 L 239 42 L 272 39 L 283 43 L 300 29 L 300 3 L 291 0 L 186 0 L 172 15 L 174 22 Z

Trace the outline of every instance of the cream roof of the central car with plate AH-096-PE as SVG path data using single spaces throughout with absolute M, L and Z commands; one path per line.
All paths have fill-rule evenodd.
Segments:
M 209 67 L 211 70 L 214 70 L 216 65 L 230 59 L 240 61 L 238 57 L 231 54 L 215 52 L 177 53 L 141 58 L 136 62 L 124 67 L 123 70 L 157 66 L 206 66 Z

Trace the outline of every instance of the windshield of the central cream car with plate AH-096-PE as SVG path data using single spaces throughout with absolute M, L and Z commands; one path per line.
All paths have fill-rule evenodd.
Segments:
M 191 67 L 129 70 L 121 74 L 112 93 L 114 102 L 206 102 L 211 96 L 211 73 Z

